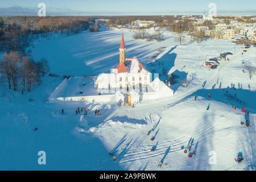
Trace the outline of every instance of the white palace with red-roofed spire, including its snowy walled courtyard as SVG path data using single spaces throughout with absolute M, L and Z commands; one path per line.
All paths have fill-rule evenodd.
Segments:
M 126 58 L 125 42 L 121 40 L 119 65 L 110 73 L 101 73 L 96 78 L 71 77 L 65 79 L 50 95 L 49 100 L 118 102 L 133 105 L 143 100 L 173 96 L 173 90 L 152 75 L 137 57 Z

